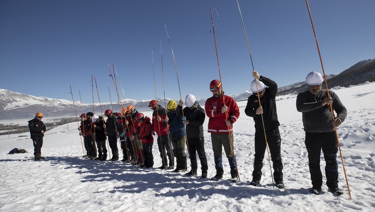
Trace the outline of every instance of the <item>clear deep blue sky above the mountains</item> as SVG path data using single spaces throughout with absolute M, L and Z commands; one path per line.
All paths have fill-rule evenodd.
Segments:
M 304 0 L 239 1 L 254 69 L 279 87 L 322 73 Z M 101 102 L 117 102 L 108 66 L 114 63 L 127 99 L 211 96 L 219 79 L 210 8 L 223 89 L 250 90 L 252 66 L 236 0 L 231 1 L 0 1 L 0 88 L 91 103 L 91 75 Z M 309 1 L 326 74 L 375 58 L 374 0 Z M 219 23 L 217 21 L 219 20 Z M 161 60 L 160 40 L 163 60 Z M 153 52 L 153 60 L 151 51 Z M 98 102 L 96 86 L 94 101 Z M 119 96 L 124 99 L 118 84 Z

